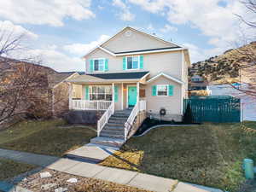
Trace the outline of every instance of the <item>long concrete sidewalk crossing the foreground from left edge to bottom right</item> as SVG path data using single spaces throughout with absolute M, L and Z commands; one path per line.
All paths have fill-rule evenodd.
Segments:
M 0 149 L 0 157 L 43 166 L 59 172 L 66 172 L 81 177 L 92 177 L 156 192 L 221 192 L 219 189 L 207 188 L 190 183 L 177 183 L 177 180 L 171 178 L 156 177 L 139 172 L 98 166 L 78 160 L 57 158 L 48 155 Z

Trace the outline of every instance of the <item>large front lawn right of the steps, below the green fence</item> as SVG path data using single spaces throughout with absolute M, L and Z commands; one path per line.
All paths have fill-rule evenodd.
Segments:
M 256 136 L 240 124 L 166 126 L 132 137 L 101 165 L 236 191 L 244 180 L 241 161 L 256 160 L 255 148 Z

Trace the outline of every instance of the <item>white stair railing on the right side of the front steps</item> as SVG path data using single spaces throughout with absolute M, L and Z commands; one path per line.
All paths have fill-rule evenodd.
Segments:
M 146 110 L 146 101 L 137 102 L 134 108 L 131 110 L 130 116 L 125 122 L 125 141 L 127 140 L 128 134 L 131 131 L 131 127 L 138 113 L 143 110 Z

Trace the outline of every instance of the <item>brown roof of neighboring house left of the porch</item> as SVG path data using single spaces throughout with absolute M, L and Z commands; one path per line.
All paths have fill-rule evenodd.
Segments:
M 53 73 L 48 75 L 48 83 L 49 87 L 54 88 L 55 85 L 60 84 L 61 82 L 65 81 L 66 79 L 72 78 L 74 74 L 79 73 L 74 73 L 74 72 L 69 72 L 69 73 Z

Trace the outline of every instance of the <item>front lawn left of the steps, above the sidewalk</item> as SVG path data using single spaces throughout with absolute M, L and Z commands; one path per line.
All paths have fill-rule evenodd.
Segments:
M 65 122 L 60 119 L 21 122 L 0 131 L 0 148 L 61 156 L 96 137 L 96 131 L 90 127 L 61 125 Z

